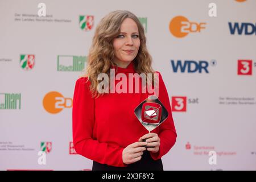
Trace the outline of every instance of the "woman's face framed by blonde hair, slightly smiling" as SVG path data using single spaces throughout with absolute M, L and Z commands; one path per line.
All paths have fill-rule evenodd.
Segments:
M 120 34 L 113 40 L 114 63 L 117 65 L 129 65 L 137 56 L 140 45 L 137 24 L 133 19 L 126 18 L 121 24 Z

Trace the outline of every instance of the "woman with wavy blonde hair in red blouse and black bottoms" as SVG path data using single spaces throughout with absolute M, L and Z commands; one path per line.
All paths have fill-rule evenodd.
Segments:
M 78 154 L 93 160 L 93 170 L 163 170 L 161 158 L 174 146 L 176 131 L 166 86 L 151 63 L 144 29 L 134 14 L 113 11 L 101 20 L 89 51 L 86 75 L 76 81 L 73 96 L 73 143 Z M 166 121 L 148 133 L 134 109 L 149 94 L 119 92 L 126 85 L 120 86 L 118 80 L 112 85 L 119 86 L 116 92 L 109 92 L 113 89 L 109 85 L 104 86 L 105 93 L 99 92 L 99 75 L 108 75 L 108 83 L 113 81 L 110 69 L 127 77 L 158 73 L 158 98 L 169 113 Z

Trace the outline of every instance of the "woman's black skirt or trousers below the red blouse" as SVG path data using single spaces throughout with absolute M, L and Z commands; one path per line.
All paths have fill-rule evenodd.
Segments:
M 114 167 L 93 161 L 92 171 L 163 171 L 163 163 L 161 159 L 152 159 L 150 152 L 144 151 L 141 160 L 127 167 Z

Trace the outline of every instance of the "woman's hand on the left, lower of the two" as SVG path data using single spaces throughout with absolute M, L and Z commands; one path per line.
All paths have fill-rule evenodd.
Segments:
M 135 142 L 123 149 L 123 163 L 131 164 L 141 160 L 146 145 L 147 142 Z

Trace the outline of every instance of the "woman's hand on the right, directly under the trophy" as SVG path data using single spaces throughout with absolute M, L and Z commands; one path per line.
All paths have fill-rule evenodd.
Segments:
M 142 142 L 143 139 L 146 139 L 147 142 L 147 151 L 156 153 L 159 151 L 160 138 L 156 133 L 148 133 L 139 138 L 139 142 Z M 150 147 L 148 147 L 150 146 Z M 152 148 L 151 148 L 152 147 Z

